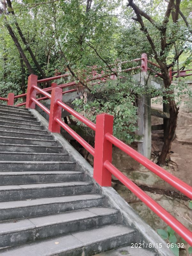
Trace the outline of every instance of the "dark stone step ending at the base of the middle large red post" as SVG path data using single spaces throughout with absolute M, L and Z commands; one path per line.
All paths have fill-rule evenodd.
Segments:
M 41 126 L 41 129 L 43 127 Z M 28 132 L 28 133 L 36 133 L 36 134 L 48 134 L 48 131 L 33 128 L 24 128 L 24 127 L 16 127 L 16 126 L 9 126 L 9 125 L 0 125 L 1 131 L 9 131 L 9 132 Z

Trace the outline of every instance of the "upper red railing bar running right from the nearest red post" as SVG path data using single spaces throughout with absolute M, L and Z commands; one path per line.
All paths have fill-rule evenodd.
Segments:
M 178 179 L 170 172 L 165 171 L 162 167 L 158 166 L 157 164 L 150 161 L 147 157 L 141 155 L 135 149 L 131 148 L 130 146 L 126 145 L 123 141 L 118 140 L 110 133 L 106 133 L 106 139 L 110 141 L 113 145 L 117 148 L 124 151 L 126 154 L 131 156 L 135 159 L 138 163 L 145 166 L 148 170 L 155 173 L 157 176 L 162 178 L 164 181 L 172 185 L 174 188 L 178 189 L 181 193 L 188 196 L 192 199 L 192 187 L 183 182 L 182 180 Z

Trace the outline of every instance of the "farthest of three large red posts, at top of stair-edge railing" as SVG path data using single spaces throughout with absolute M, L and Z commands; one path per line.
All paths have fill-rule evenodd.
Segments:
M 32 85 L 37 86 L 37 76 L 30 75 L 28 77 L 28 86 L 27 86 L 27 98 L 26 98 L 26 108 L 35 108 L 35 102 L 31 100 L 31 97 L 36 98 L 36 89 L 32 87 Z

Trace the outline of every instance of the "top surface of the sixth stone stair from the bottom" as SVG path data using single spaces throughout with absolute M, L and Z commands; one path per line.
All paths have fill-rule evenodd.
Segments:
M 13 175 L 41 175 L 41 174 L 81 174 L 83 171 L 28 171 L 28 172 L 0 172 L 0 176 L 13 176 Z

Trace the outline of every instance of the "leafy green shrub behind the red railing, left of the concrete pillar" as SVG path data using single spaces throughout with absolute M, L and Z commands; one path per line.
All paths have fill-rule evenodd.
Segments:
M 99 99 L 87 100 L 87 98 L 76 99 L 73 101 L 75 109 L 84 116 L 96 120 L 96 115 L 108 113 L 114 116 L 114 135 L 128 143 L 133 141 L 132 134 L 137 129 L 137 107 L 133 105 L 134 92 L 141 93 L 142 88 L 134 88 L 133 81 L 128 79 L 126 82 L 113 80 L 98 92 L 98 85 L 92 88 L 92 92 L 97 91 Z

